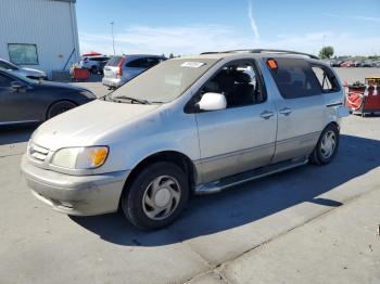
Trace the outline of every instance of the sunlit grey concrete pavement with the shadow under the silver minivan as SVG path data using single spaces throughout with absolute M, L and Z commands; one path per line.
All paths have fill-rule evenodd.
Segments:
M 332 164 L 194 196 L 150 233 L 36 199 L 20 171 L 35 128 L 0 129 L 0 283 L 380 283 L 379 116 L 343 121 Z

